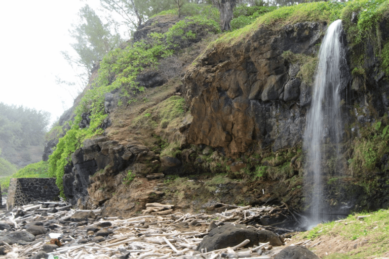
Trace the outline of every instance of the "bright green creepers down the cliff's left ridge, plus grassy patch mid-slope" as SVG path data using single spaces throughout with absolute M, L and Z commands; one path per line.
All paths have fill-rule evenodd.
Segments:
M 99 135 L 103 132 L 101 123 L 106 118 L 104 114 L 105 94 L 115 89 L 120 89 L 122 99 L 132 102 L 137 93 L 143 92 L 144 88 L 139 87 L 135 79 L 140 71 L 145 68 L 154 68 L 158 65 L 160 58 L 173 54 L 174 40 L 177 37 L 185 40 L 192 39 L 198 31 L 188 30 L 189 27 L 209 26 L 210 31 L 217 30 L 218 26 L 213 20 L 204 17 L 190 17 L 180 21 L 171 27 L 165 34 L 151 33 L 147 40 L 134 42 L 124 49 L 115 49 L 104 56 L 100 62 L 98 77 L 93 82 L 93 87 L 88 90 L 76 108 L 76 116 L 71 123 L 71 128 L 63 138 L 59 140 L 57 147 L 49 158 L 50 175 L 57 178 L 57 185 L 62 191 L 62 177 L 64 166 L 70 162 L 70 155 L 81 147 L 85 139 Z M 158 116 L 155 120 L 167 124 L 177 114 L 184 111 L 184 99 L 171 97 L 164 102 L 169 106 L 159 106 Z M 90 125 L 86 128 L 79 128 L 83 113 L 90 113 Z M 142 116 L 144 119 L 154 119 L 152 116 Z

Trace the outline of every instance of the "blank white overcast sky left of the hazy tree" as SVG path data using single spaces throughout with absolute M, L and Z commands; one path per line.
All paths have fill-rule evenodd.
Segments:
M 97 11 L 99 0 L 2 1 L 0 102 L 48 111 L 52 122 L 71 107 L 55 78 L 74 76 L 60 52 L 71 51 L 68 29 L 85 4 Z

